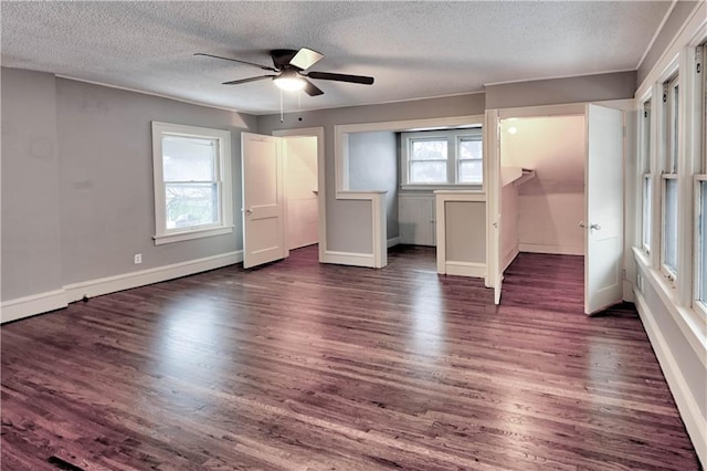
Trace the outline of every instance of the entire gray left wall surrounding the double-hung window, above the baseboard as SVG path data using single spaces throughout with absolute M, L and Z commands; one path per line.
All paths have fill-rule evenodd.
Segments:
M 255 117 L 19 70 L 1 84 L 2 300 L 242 248 L 240 132 Z M 155 245 L 151 121 L 232 132 L 232 234 Z

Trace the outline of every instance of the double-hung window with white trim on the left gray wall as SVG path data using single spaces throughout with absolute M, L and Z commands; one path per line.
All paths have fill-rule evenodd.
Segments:
M 155 243 L 232 232 L 231 134 L 152 123 Z

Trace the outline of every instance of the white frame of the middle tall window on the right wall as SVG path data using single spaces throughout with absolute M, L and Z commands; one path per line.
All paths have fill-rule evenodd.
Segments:
M 678 158 L 679 158 L 679 149 L 678 146 L 678 134 L 676 130 L 676 119 L 679 116 L 678 103 L 676 102 L 675 88 L 678 90 L 677 98 L 679 101 L 680 93 L 680 82 L 679 74 L 673 75 L 668 78 L 663 85 L 663 148 L 661 151 L 663 153 L 662 158 L 662 168 L 663 171 L 661 174 L 661 271 L 665 275 L 665 278 L 671 282 L 671 285 L 675 287 L 677 285 L 677 272 L 679 271 L 679 250 L 677 248 L 676 242 L 676 270 L 673 270 L 665 263 L 665 249 L 666 249 L 666 214 L 667 214 L 667 182 L 668 180 L 675 180 L 677 187 L 677 211 L 676 216 L 679 216 L 679 181 L 678 181 Z M 677 220 L 677 230 L 679 237 L 679 218 Z

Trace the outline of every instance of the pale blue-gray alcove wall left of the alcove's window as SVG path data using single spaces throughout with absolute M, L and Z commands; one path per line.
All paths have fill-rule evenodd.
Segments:
M 388 239 L 400 236 L 398 227 L 398 137 L 395 133 L 349 134 L 349 189 L 386 193 Z

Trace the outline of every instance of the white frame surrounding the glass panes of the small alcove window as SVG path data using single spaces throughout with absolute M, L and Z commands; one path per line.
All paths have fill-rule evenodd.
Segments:
M 478 139 L 484 146 L 484 130 L 482 126 L 464 127 L 456 129 L 437 129 L 437 130 L 419 130 L 401 133 L 400 136 L 400 180 L 403 190 L 434 190 L 434 189 L 484 189 L 484 177 L 478 184 L 463 184 L 458 181 L 458 145 L 462 139 Z M 442 140 L 446 139 L 447 158 L 446 158 L 446 182 L 410 182 L 410 165 L 412 143 L 415 140 Z M 482 153 L 482 166 L 485 166 Z

